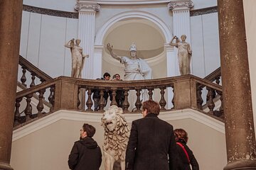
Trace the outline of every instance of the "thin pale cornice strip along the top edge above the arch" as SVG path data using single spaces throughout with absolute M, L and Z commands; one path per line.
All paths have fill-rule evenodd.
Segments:
M 92 3 L 92 1 L 78 0 L 82 3 Z M 100 0 L 93 1 L 96 4 L 106 4 L 106 5 L 145 5 L 145 4 L 166 4 L 169 3 L 167 0 Z

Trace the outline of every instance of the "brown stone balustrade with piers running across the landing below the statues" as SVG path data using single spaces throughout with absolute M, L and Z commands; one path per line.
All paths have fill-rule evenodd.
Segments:
M 202 88 L 206 88 L 208 91 L 207 98 L 203 98 L 201 95 Z M 14 125 L 21 125 L 22 123 L 27 123 L 33 120 L 33 118 L 40 118 L 41 116 L 47 115 L 43 113 L 43 101 L 48 101 L 51 103 L 50 113 L 53 111 L 63 110 L 78 110 L 93 112 L 92 110 L 92 90 L 98 89 L 100 91 L 100 109 L 97 112 L 103 112 L 105 108 L 105 103 L 103 99 L 104 91 L 112 91 L 112 101 L 110 105 L 117 105 L 114 99 L 117 90 L 124 91 L 124 102 L 123 109 L 124 113 L 129 113 L 129 91 L 137 91 L 137 98 L 135 103 L 136 111 L 141 111 L 142 101 L 140 100 L 140 91 L 146 89 L 149 94 L 150 99 L 159 96 L 159 102 L 161 106 L 161 111 L 166 111 L 170 109 L 183 109 L 183 108 L 193 108 L 198 111 L 203 112 L 202 103 L 206 101 L 208 103 L 209 112 L 208 115 L 221 117 L 223 111 L 215 111 L 215 106 L 213 102 L 214 94 L 218 93 L 222 96 L 222 88 L 218 84 L 213 84 L 212 82 L 195 77 L 193 75 L 185 75 L 180 77 L 167 77 L 163 79 L 151 79 L 151 80 L 137 80 L 137 81 L 102 81 L 102 80 L 92 80 L 92 79 L 75 79 L 71 77 L 58 77 L 45 81 L 37 86 L 32 86 L 29 89 L 25 89 L 17 93 L 16 96 L 16 110 L 15 110 L 15 122 Z M 171 93 L 168 91 L 171 89 Z M 50 94 L 44 96 L 46 91 Z M 168 91 L 168 95 L 165 95 Z M 36 113 L 31 113 L 33 110 L 31 107 L 31 96 L 33 94 L 38 94 L 38 105 L 36 106 Z M 167 94 L 167 93 L 166 93 Z M 87 96 L 87 97 L 85 97 Z M 85 101 L 87 98 L 87 101 Z M 21 115 L 19 112 L 19 107 L 21 101 L 26 100 L 26 109 L 24 114 Z M 167 102 L 173 104 L 173 107 L 169 108 L 166 106 Z M 221 99 L 222 100 L 222 99 Z M 83 106 L 82 106 L 83 104 Z M 218 112 L 218 114 L 217 114 Z

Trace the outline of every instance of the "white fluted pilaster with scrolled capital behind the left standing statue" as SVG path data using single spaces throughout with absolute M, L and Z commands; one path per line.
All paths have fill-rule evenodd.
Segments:
M 100 5 L 78 0 L 75 9 L 79 12 L 78 38 L 81 39 L 84 53 L 89 55 L 89 58 L 85 59 L 82 78 L 94 79 L 95 13 L 100 10 Z

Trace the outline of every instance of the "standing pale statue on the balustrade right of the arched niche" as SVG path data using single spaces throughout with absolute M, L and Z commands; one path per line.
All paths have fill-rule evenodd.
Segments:
M 176 42 L 174 43 L 174 39 Z M 188 42 L 186 42 L 186 35 L 181 35 L 181 40 L 175 35 L 170 42 L 171 46 L 178 48 L 178 66 L 181 75 L 186 75 L 191 73 L 190 62 L 192 50 Z

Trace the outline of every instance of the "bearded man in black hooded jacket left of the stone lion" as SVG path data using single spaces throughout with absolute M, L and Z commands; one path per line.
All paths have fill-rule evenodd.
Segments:
M 68 157 L 68 166 L 72 170 L 99 170 L 102 152 L 97 142 L 92 139 L 96 129 L 87 123 L 82 125 L 80 140 L 76 141 Z

